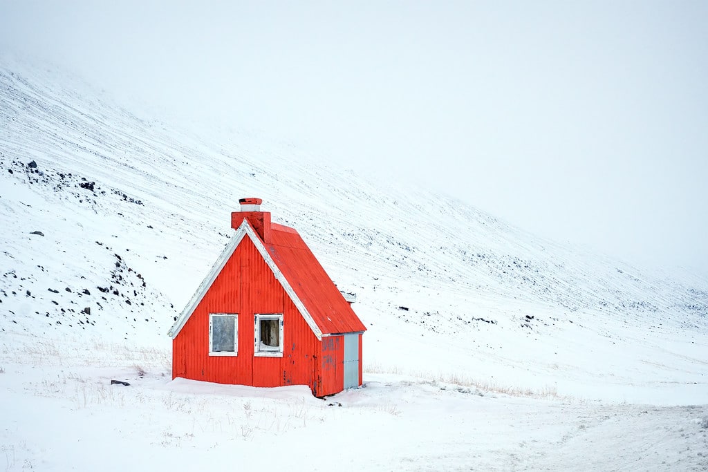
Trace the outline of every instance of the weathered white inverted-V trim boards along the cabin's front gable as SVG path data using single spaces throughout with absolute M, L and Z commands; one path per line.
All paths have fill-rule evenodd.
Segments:
M 205 277 L 205 279 L 202 281 L 199 288 L 192 296 L 187 306 L 184 307 L 179 318 L 177 318 L 177 321 L 174 323 L 172 328 L 170 328 L 167 334 L 169 334 L 172 339 L 177 337 L 179 332 L 184 327 L 185 323 L 187 323 L 189 317 L 192 316 L 192 313 L 195 311 L 195 309 L 197 309 L 197 306 L 204 298 L 209 287 L 212 286 L 219 273 L 221 273 L 222 269 L 224 268 L 224 265 L 226 265 L 229 258 L 231 258 L 231 256 L 234 254 L 234 251 L 236 251 L 236 248 L 239 247 L 239 244 L 246 236 L 248 236 L 251 239 L 251 242 L 253 242 L 253 245 L 256 246 L 258 253 L 261 254 L 261 257 L 263 257 L 265 263 L 268 264 L 270 270 L 273 271 L 273 275 L 275 275 L 275 280 L 278 280 L 278 282 L 280 282 L 280 285 L 282 285 L 282 288 L 285 290 L 285 293 L 287 293 L 287 296 L 290 297 L 292 303 L 295 304 L 297 311 L 299 311 L 299 313 L 302 315 L 302 318 L 304 318 L 304 320 L 307 322 L 307 325 L 312 330 L 312 333 L 316 335 L 317 339 L 322 340 L 322 331 L 319 329 L 319 326 L 317 326 L 317 324 L 314 322 L 314 318 L 312 318 L 312 315 L 310 315 L 309 311 L 307 311 L 307 308 L 305 307 L 304 303 L 302 303 L 302 300 L 297 297 L 297 294 L 295 294 L 295 290 L 292 289 L 290 283 L 287 282 L 287 279 L 285 279 L 285 275 L 282 275 L 282 272 L 280 272 L 280 269 L 278 269 L 278 265 L 275 264 L 275 260 L 270 257 L 270 254 L 265 249 L 265 246 L 263 246 L 263 242 L 261 242 L 261 239 L 258 238 L 256 232 L 253 231 L 253 228 L 251 228 L 251 225 L 248 221 L 246 221 L 246 219 L 244 219 L 244 222 L 241 223 L 239 229 L 236 230 L 236 234 L 232 236 L 232 240 L 229 241 L 229 244 L 227 244 L 227 246 L 224 248 L 224 251 L 222 251 L 221 255 L 219 255 L 219 258 L 212 266 L 212 269 L 207 274 L 207 277 Z

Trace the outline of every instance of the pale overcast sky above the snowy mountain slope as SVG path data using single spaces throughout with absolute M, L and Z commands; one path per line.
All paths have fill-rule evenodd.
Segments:
M 0 47 L 708 275 L 708 2 L 0 0 Z

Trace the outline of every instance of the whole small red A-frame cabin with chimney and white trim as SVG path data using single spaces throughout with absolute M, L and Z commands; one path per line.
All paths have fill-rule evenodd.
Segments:
M 239 200 L 232 236 L 182 311 L 172 378 L 258 387 L 308 385 L 314 396 L 362 384 L 366 330 L 295 229 Z

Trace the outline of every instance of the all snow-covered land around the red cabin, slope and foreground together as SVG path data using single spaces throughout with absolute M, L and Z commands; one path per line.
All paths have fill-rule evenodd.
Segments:
M 0 466 L 708 468 L 708 280 L 134 113 L 0 62 Z M 171 380 L 166 331 L 245 196 L 357 293 L 363 388 Z

